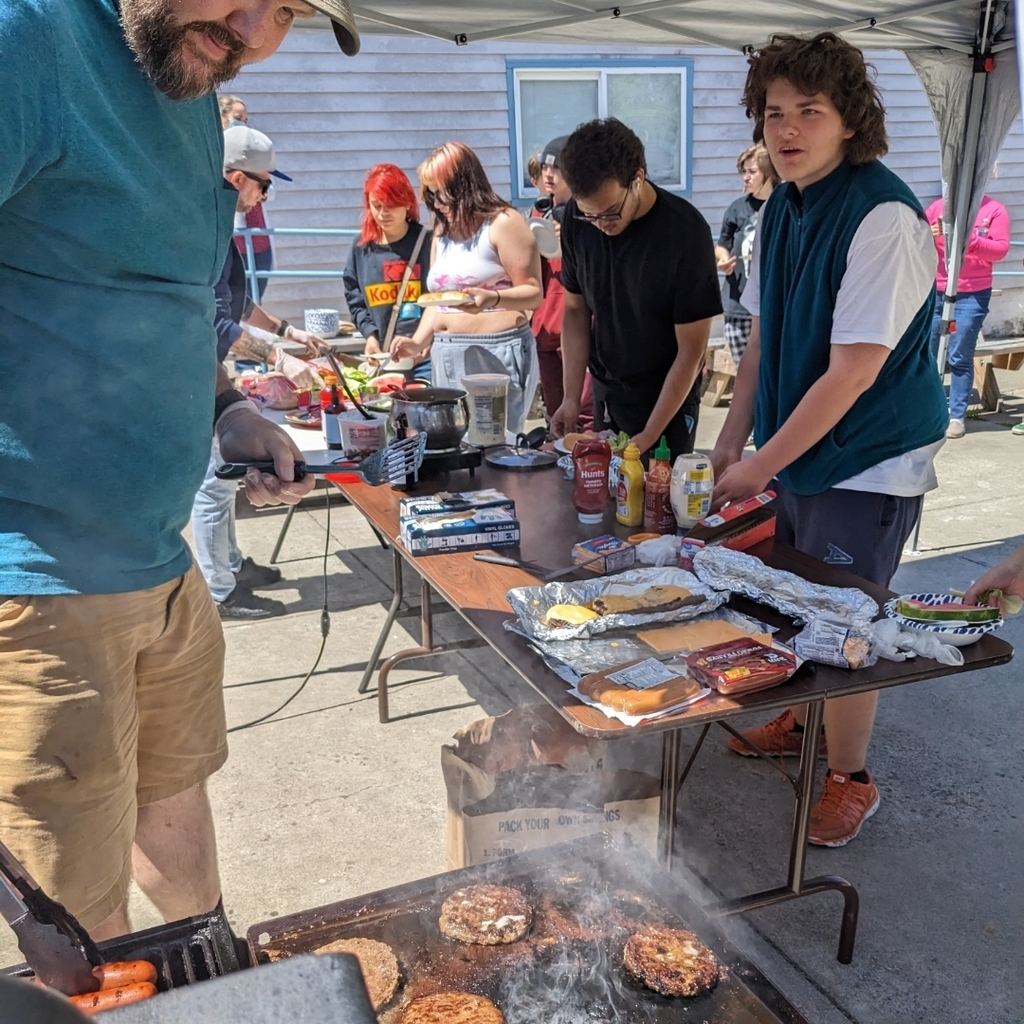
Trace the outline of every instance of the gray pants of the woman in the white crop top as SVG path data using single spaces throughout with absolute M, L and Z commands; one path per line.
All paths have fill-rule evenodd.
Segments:
M 434 387 L 462 387 L 467 374 L 509 378 L 508 422 L 519 433 L 540 380 L 537 341 L 528 324 L 498 334 L 435 334 L 430 350 Z

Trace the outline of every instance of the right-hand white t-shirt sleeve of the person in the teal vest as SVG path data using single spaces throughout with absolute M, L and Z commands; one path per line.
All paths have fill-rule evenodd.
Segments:
M 877 206 L 850 243 L 831 343 L 895 348 L 928 297 L 936 265 L 928 222 L 905 203 Z M 745 292 L 743 304 L 750 309 Z

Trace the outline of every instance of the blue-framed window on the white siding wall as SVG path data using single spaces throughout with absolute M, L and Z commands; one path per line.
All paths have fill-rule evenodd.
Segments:
M 608 117 L 640 136 L 652 181 L 689 195 L 692 60 L 508 60 L 506 73 L 513 201 L 537 196 L 526 176 L 530 154 Z

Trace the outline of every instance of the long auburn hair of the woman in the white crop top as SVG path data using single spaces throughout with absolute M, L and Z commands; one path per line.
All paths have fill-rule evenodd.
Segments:
M 454 230 L 468 238 L 481 220 L 511 209 L 511 204 L 490 187 L 480 158 L 463 142 L 439 145 L 416 173 L 420 177 L 420 196 L 434 215 L 441 234 Z M 437 209 L 438 199 L 449 208 L 451 216 Z

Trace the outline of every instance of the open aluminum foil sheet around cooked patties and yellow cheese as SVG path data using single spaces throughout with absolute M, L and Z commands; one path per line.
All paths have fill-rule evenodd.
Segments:
M 597 618 L 565 629 L 554 630 L 544 624 L 544 616 L 552 605 L 587 604 L 595 597 L 608 594 L 642 594 L 648 587 L 656 584 L 684 587 L 691 594 L 700 595 L 703 600 L 698 604 L 685 604 L 672 611 L 598 615 Z M 582 640 L 608 630 L 628 629 L 648 623 L 683 622 L 714 611 L 729 599 L 728 592 L 701 583 L 692 572 L 668 567 L 629 569 L 616 575 L 595 577 L 593 580 L 578 580 L 572 583 L 549 583 L 543 587 L 516 587 L 505 596 L 518 615 L 522 631 L 538 640 Z

